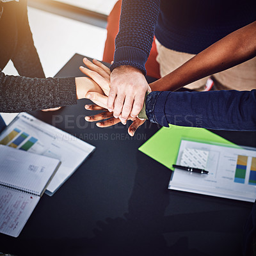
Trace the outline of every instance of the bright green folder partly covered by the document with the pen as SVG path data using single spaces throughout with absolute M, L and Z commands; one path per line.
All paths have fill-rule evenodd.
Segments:
M 239 147 L 203 128 L 182 127 L 170 125 L 163 127 L 146 141 L 139 150 L 152 157 L 167 168 L 172 169 L 176 163 L 181 140 L 199 141 L 209 144 L 225 144 L 230 147 Z

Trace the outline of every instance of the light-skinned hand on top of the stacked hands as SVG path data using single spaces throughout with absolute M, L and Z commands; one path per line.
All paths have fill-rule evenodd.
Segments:
M 124 124 L 130 115 L 138 116 L 143 107 L 145 93 L 150 87 L 142 72 L 131 66 L 115 68 L 111 73 L 110 81 L 108 110 L 113 111 L 115 118 L 122 113 L 120 118 Z

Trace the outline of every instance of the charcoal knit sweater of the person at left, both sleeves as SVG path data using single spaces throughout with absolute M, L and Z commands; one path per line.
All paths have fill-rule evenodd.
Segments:
M 0 3 L 0 71 L 9 60 L 20 76 L 0 72 L 0 112 L 77 103 L 74 77 L 45 78 L 29 28 L 26 0 Z

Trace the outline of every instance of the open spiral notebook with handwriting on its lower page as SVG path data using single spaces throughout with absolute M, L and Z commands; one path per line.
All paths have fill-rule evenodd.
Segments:
M 47 185 L 58 159 L 0 145 L 0 232 L 19 236 Z

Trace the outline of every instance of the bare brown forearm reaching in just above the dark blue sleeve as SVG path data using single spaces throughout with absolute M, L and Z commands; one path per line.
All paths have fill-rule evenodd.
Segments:
M 202 77 L 221 72 L 256 56 L 256 22 L 238 29 L 172 73 L 150 84 L 152 91 L 177 90 Z

